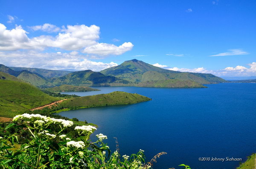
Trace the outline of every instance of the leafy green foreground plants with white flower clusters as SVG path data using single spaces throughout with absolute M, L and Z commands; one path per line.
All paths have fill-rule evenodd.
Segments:
M 119 149 L 111 154 L 103 142 L 106 135 L 98 134 L 98 140 L 91 141 L 90 135 L 97 129 L 90 125 L 74 127 L 72 121 L 39 114 L 17 115 L 13 121 L 5 127 L 5 130 L 12 128 L 8 135 L 0 132 L 3 169 L 148 169 L 152 166 L 145 163 L 143 150 L 121 158 Z M 67 134 L 70 128 L 76 137 Z M 28 139 L 20 139 L 23 136 Z

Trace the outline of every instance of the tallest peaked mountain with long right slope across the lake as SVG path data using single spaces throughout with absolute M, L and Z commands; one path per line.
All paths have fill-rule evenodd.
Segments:
M 190 73 L 166 70 L 137 59 L 125 61 L 121 65 L 100 72 L 105 75 L 127 80 L 140 87 L 157 87 L 159 85 L 156 85 L 156 83 L 159 84 L 160 82 L 166 84 L 161 87 L 203 87 L 201 84 L 226 82 L 224 79 L 209 73 Z M 179 81 L 170 81 L 171 79 L 177 79 Z M 180 83 L 180 81 L 186 82 Z M 182 85 L 177 85 L 177 82 Z M 173 85 L 173 83 L 176 83 L 176 85 Z

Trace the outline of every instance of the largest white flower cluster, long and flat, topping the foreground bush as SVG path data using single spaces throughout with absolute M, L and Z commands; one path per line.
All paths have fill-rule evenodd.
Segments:
M 44 123 L 49 123 L 49 124 L 57 123 L 57 124 L 62 124 L 64 127 L 71 127 L 73 125 L 73 121 L 50 118 L 40 114 L 27 114 L 27 113 L 24 113 L 22 115 L 16 115 L 13 118 L 13 121 L 15 122 L 30 121 L 40 126 L 42 126 Z

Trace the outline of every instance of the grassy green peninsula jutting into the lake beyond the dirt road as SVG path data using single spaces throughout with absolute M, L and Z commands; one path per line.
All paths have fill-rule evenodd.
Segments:
M 71 98 L 61 102 L 59 105 L 64 108 L 86 108 L 116 104 L 134 104 L 148 100 L 151 99 L 136 93 L 133 94 L 116 91 L 108 94 Z

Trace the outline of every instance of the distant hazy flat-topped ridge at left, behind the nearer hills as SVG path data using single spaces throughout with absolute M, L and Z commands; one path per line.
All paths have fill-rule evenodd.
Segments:
M 40 69 L 40 68 L 21 68 L 21 67 L 9 67 L 9 68 L 15 71 L 28 70 L 32 73 L 38 73 L 41 76 L 44 76 L 45 78 L 61 77 L 72 72 L 67 70 L 48 70 L 48 69 Z

